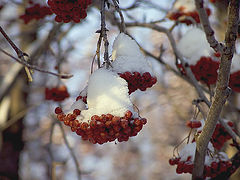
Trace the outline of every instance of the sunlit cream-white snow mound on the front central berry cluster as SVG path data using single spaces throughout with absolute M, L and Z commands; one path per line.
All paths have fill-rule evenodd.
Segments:
M 133 112 L 127 82 L 104 68 L 96 70 L 90 76 L 87 94 L 88 110 L 81 112 L 83 121 L 89 120 L 93 115 L 110 113 L 122 117 L 127 110 Z

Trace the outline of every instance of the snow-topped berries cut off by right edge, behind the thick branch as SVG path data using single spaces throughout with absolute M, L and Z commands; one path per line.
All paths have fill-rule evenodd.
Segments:
M 235 92 L 240 92 L 240 55 L 234 54 L 232 58 L 229 87 Z

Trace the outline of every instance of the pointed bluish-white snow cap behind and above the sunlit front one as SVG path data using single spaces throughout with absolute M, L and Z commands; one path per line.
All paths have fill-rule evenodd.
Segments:
M 118 73 L 149 72 L 153 75 L 150 63 L 142 54 L 135 40 L 124 33 L 120 33 L 113 43 L 112 51 L 113 71 Z

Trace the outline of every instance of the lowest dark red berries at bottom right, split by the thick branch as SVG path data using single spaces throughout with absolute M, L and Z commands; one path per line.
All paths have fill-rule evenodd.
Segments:
M 169 159 L 169 164 L 171 166 L 177 165 L 176 172 L 178 174 L 190 173 L 193 171 L 193 161 L 192 156 L 188 156 L 187 160 L 181 161 L 180 157 L 175 157 Z M 217 160 L 213 161 L 210 165 L 204 165 L 203 176 L 214 178 L 222 172 L 228 171 L 231 169 L 232 163 L 229 160 Z

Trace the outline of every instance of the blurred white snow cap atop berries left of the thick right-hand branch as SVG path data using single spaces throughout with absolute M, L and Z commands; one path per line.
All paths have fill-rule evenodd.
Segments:
M 177 49 L 191 65 L 195 65 L 202 56 L 211 56 L 214 53 L 205 33 L 199 28 L 186 32 L 178 42 Z

